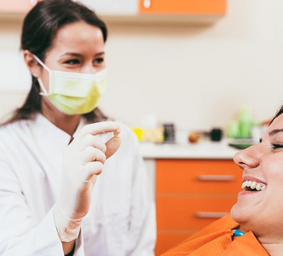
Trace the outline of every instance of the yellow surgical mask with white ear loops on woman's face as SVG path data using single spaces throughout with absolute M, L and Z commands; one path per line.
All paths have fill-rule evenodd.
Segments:
M 37 56 L 38 63 L 49 72 L 49 92 L 42 81 L 39 85 L 51 103 L 67 115 L 85 114 L 93 111 L 107 88 L 106 70 L 96 74 L 84 74 L 49 69 Z

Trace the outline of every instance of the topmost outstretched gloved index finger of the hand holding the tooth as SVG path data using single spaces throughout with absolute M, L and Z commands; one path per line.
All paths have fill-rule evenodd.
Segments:
M 98 135 L 102 133 L 110 133 L 119 130 L 120 126 L 117 122 L 99 122 L 91 123 L 82 127 L 77 138 L 81 139 L 87 134 Z

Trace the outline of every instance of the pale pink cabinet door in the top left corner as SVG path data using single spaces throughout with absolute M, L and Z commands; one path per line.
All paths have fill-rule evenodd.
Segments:
M 36 3 L 36 0 L 0 0 L 0 12 L 27 12 Z

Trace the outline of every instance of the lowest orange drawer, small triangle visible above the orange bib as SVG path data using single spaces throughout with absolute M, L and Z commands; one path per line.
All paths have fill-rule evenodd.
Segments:
M 155 255 L 158 256 L 163 252 L 178 245 L 182 241 L 188 239 L 192 233 L 188 232 L 163 232 L 157 231 L 157 242 L 155 247 Z

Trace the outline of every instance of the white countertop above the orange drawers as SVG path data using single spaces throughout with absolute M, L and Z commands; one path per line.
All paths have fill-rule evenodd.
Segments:
M 232 159 L 238 152 L 228 142 L 201 141 L 198 144 L 140 143 L 144 159 Z

